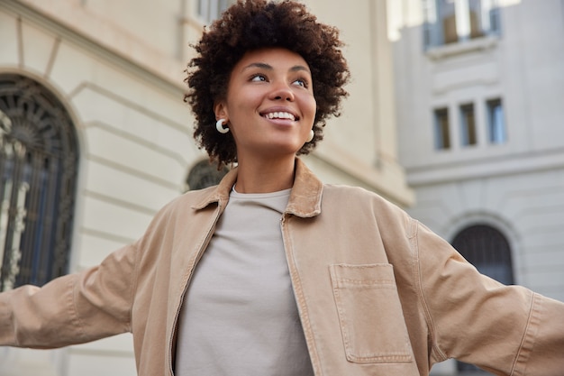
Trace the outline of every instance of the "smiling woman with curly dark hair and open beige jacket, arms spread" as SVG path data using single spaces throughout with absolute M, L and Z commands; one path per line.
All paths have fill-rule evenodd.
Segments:
M 196 45 L 186 101 L 196 140 L 237 168 L 101 265 L 0 294 L 0 344 L 129 331 L 151 376 L 427 375 L 450 357 L 561 374 L 564 304 L 480 275 L 396 206 L 296 158 L 339 115 L 340 47 L 304 5 L 233 5 Z

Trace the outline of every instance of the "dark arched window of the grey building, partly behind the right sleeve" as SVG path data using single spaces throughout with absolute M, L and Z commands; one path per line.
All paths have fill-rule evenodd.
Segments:
M 460 231 L 451 243 L 482 274 L 505 285 L 514 283 L 511 248 L 505 235 L 496 228 L 490 225 L 471 225 Z M 464 362 L 458 362 L 457 369 L 459 374 L 489 374 Z

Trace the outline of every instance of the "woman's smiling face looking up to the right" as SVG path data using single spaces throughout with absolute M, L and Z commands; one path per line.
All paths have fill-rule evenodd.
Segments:
M 215 104 L 225 118 L 241 164 L 250 158 L 294 158 L 314 125 L 311 72 L 295 52 L 268 48 L 247 52 L 233 67 L 227 97 Z

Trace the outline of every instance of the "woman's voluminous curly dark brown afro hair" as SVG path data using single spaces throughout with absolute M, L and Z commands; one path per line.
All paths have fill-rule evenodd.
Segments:
M 196 116 L 194 137 L 211 160 L 220 166 L 237 161 L 232 133 L 215 129 L 214 103 L 227 96 L 233 67 L 250 50 L 281 47 L 300 55 L 309 65 L 314 82 L 317 111 L 314 139 L 297 154 L 307 154 L 323 139 L 323 126 L 330 116 L 341 115 L 343 86 L 350 79 L 341 53 L 339 30 L 318 23 L 305 5 L 283 0 L 239 0 L 229 7 L 194 46 L 196 57 L 186 69 L 189 91 L 185 102 Z

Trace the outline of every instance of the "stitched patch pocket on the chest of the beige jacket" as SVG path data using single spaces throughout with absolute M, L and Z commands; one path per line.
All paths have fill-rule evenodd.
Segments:
M 330 270 L 347 360 L 412 362 L 392 265 L 335 264 Z

